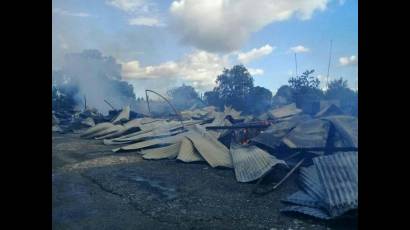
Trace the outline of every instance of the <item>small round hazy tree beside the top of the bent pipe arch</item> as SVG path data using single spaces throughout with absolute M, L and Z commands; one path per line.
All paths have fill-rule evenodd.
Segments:
M 185 84 L 169 90 L 168 95 L 171 97 L 172 104 L 177 109 L 188 109 L 194 103 L 200 101 L 199 95 L 194 87 Z

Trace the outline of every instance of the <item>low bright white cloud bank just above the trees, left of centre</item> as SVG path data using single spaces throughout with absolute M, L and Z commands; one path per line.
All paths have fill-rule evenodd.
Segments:
M 229 67 L 227 55 L 197 50 L 180 60 L 159 65 L 143 67 L 137 60 L 122 63 L 122 76 L 124 80 L 157 79 L 162 83 L 181 80 L 200 90 L 209 90 L 225 67 Z

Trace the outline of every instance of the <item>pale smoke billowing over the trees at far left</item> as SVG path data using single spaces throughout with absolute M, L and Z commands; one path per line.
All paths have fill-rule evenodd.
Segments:
M 102 113 L 111 109 L 104 100 L 116 109 L 135 104 L 133 87 L 121 81 L 121 65 L 98 50 L 66 54 L 61 70 L 53 72 L 53 83 L 57 87 L 75 86 L 77 104 L 84 105 L 85 98 L 87 107 Z

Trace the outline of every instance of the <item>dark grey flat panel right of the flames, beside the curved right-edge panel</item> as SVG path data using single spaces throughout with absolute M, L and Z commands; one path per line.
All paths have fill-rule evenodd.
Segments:
M 330 122 L 313 119 L 297 125 L 286 137 L 283 143 L 289 148 L 326 147 Z

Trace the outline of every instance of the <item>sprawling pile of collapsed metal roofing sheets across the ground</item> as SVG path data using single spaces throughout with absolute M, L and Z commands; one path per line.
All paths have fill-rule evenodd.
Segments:
M 270 191 L 298 172 L 301 190 L 283 200 L 284 213 L 332 219 L 357 208 L 357 118 L 335 104 L 314 116 L 294 103 L 258 117 L 213 106 L 177 112 L 173 119 L 133 118 L 128 106 L 110 120 L 85 113 L 78 113 L 89 127 L 81 137 L 113 145 L 113 152 L 232 168 L 238 182 L 257 181 L 255 187 L 273 169 L 285 168 L 286 176 Z M 53 114 L 53 130 L 58 124 Z

